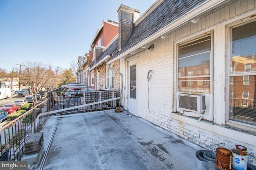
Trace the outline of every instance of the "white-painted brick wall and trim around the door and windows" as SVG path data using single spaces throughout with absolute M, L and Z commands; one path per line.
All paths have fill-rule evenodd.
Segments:
M 138 116 L 166 129 L 199 146 L 225 143 L 226 148 L 236 145 L 247 147 L 248 162 L 256 165 L 256 137 L 226 124 L 226 24 L 230 18 L 243 17 L 248 10 L 254 10 L 254 0 L 238 0 L 230 5 L 213 11 L 201 18 L 198 23 L 191 23 L 166 35 L 166 39 L 157 39 L 150 52 L 143 51 L 129 59 L 138 58 L 137 89 Z M 252 13 L 256 13 L 255 10 Z M 233 19 L 234 20 L 234 19 Z M 214 31 L 214 121 L 197 121 L 198 118 L 186 117 L 175 112 L 174 92 L 176 91 L 176 43 Z M 141 49 L 140 49 L 141 50 Z M 215 64 L 218 63 L 218 64 Z M 127 59 L 120 60 L 120 69 L 126 86 L 124 109 L 128 109 L 128 65 Z M 126 70 L 126 72 L 125 72 Z M 148 71 L 152 70 L 148 108 Z M 218 107 L 217 107 L 218 106 Z M 150 110 L 150 112 L 148 111 Z

